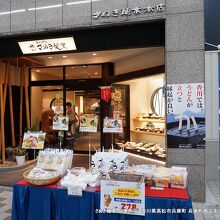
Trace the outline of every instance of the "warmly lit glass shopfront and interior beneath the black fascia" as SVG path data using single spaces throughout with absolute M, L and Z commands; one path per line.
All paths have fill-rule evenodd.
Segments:
M 52 58 L 33 56 L 48 67 L 30 69 L 32 124 L 40 121 L 41 129 L 47 132 L 48 145 L 58 145 L 58 132 L 53 131 L 48 117 L 68 115 L 67 106 L 71 104 L 71 111 L 76 114 L 77 120 L 71 124 L 64 139 L 65 146 L 73 148 L 75 153 L 94 153 L 102 146 L 114 146 L 132 155 L 165 161 L 165 106 L 164 102 L 161 103 L 164 93 L 162 101 L 159 100 L 161 95 L 155 98 L 155 108 L 158 108 L 159 101 L 159 109 L 156 109 L 159 112 L 151 108 L 154 104 L 153 93 L 163 88 L 165 82 L 164 67 L 160 65 L 164 63 L 163 52 L 163 47 L 153 47 L 51 55 Z M 93 59 L 85 64 L 88 57 Z M 63 58 L 62 62 L 60 58 Z M 67 59 L 73 58 L 80 59 L 84 64 L 64 65 L 68 63 Z M 101 62 L 97 63 L 97 60 Z M 56 63 L 63 66 L 53 66 Z M 149 68 L 150 64 L 158 66 Z M 111 86 L 111 100 L 108 102 L 101 100 L 102 86 Z M 99 118 L 97 132 L 79 131 L 80 116 L 83 114 L 94 114 Z M 149 116 L 152 118 L 145 118 Z M 121 120 L 122 132 L 103 132 L 106 117 Z M 139 123 L 139 119 L 145 121 Z M 163 123 L 157 123 L 160 119 Z

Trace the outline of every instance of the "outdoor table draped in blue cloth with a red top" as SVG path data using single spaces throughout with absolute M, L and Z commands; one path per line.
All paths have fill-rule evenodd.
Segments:
M 179 198 L 167 198 L 175 196 Z M 100 192 L 68 196 L 67 190 L 57 188 L 56 184 L 38 187 L 22 180 L 13 187 L 12 220 L 194 220 L 187 190 L 147 188 L 145 207 L 145 217 L 100 214 Z

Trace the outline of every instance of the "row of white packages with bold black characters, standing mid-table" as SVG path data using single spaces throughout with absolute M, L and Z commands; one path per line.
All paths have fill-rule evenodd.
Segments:
M 97 152 L 92 156 L 92 172 L 106 175 L 108 172 L 124 171 L 128 167 L 128 154 L 119 152 Z

